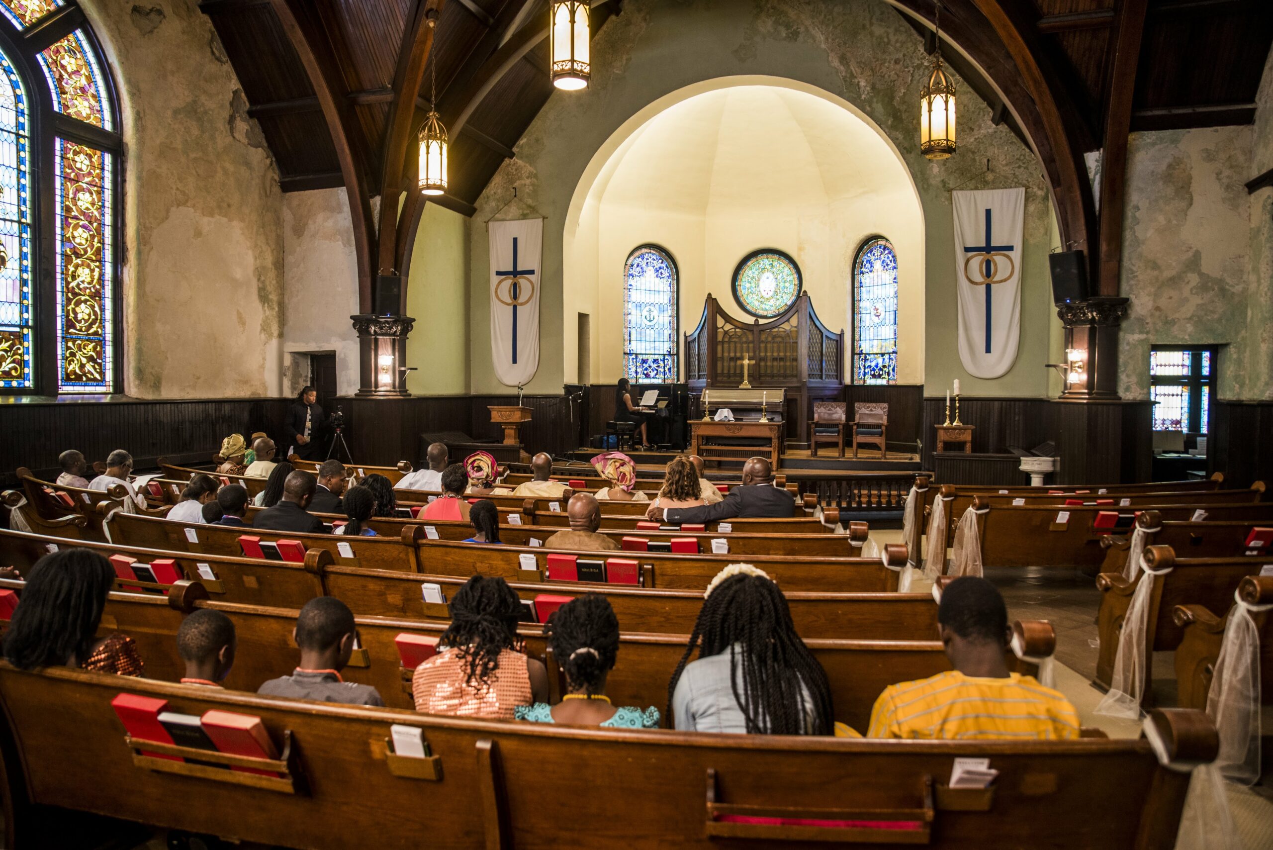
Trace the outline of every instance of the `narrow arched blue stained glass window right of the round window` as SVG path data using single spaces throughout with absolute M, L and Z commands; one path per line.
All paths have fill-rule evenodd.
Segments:
M 853 383 L 897 383 L 897 253 L 880 237 L 853 263 Z

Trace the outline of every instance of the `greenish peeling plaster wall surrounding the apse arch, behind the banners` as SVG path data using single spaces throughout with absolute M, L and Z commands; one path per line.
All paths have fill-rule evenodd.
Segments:
M 945 162 L 929 162 L 918 151 L 919 89 L 928 62 L 920 38 L 882 0 L 629 0 L 624 13 L 596 33 L 593 74 L 583 92 L 556 92 L 477 200 L 475 221 L 485 221 L 518 188 L 518 200 L 531 214 L 547 220 L 544 232 L 544 303 L 540 317 L 540 370 L 528 392 L 559 392 L 563 380 L 577 377 L 577 313 L 589 312 L 593 364 L 598 380 L 617 378 L 601 364 L 598 346 L 621 345 L 621 316 L 597 308 L 598 281 L 615 280 L 612 270 L 582 271 L 584 279 L 566 281 L 563 234 L 586 223 L 568 223 L 572 197 L 589 162 L 607 140 L 648 104 L 704 80 L 731 75 L 769 75 L 817 87 L 843 98 L 873 121 L 901 153 L 923 210 L 924 335 L 922 370 L 928 392 L 941 392 L 960 378 L 965 394 L 1045 396 L 1048 370 L 1055 361 L 1050 340 L 1057 323 L 1048 279 L 1050 202 L 1032 153 L 1006 126 L 990 122 L 990 108 L 956 80 L 960 99 L 960 151 Z M 756 127 L 763 132 L 764 127 Z M 987 159 L 990 172 L 987 173 Z M 746 179 L 745 174 L 738 179 Z M 995 380 L 967 375 L 959 361 L 955 326 L 952 188 L 1026 188 L 1025 258 L 1022 272 L 1021 347 L 1013 368 Z M 668 186 L 675 192 L 676 186 Z M 759 199 L 757 199 L 759 200 Z M 504 214 L 502 214 L 503 218 Z M 593 228 L 593 230 L 596 230 Z M 596 238 L 596 237 L 593 237 Z M 763 244 L 756 248 L 766 247 Z M 913 262 L 901 257 L 900 262 Z M 488 240 L 475 226 L 470 239 L 471 382 L 475 393 L 508 392 L 490 361 Z M 588 276 L 592 280 L 588 280 Z M 726 296 L 729 280 L 705 281 L 704 288 Z M 834 327 L 847 313 L 848 281 L 833 304 L 815 304 Z M 701 304 L 699 305 L 701 307 Z M 682 312 L 693 307 L 682 304 Z M 682 322 L 681 331 L 691 330 Z

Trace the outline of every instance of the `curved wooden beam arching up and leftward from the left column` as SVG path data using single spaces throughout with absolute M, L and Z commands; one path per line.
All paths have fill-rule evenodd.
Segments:
M 372 200 L 367 186 L 367 157 L 359 136 L 356 116 L 349 102 L 349 92 L 344 89 L 344 75 L 336 60 L 331 41 L 327 38 L 322 20 L 312 17 L 317 13 L 308 0 L 270 0 L 274 13 L 283 24 L 292 47 L 300 57 L 309 84 L 322 107 L 340 173 L 349 199 L 350 220 L 354 229 L 354 258 L 358 268 L 358 309 L 369 313 L 372 309 L 373 246 L 376 228 L 372 219 Z

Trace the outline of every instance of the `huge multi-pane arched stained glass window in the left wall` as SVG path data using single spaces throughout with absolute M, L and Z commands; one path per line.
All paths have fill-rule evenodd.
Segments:
M 116 392 L 123 145 L 78 0 L 0 0 L 0 389 Z

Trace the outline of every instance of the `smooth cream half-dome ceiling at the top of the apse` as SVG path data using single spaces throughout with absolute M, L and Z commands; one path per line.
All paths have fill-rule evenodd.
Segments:
M 643 125 L 608 163 L 603 206 L 686 215 L 825 209 L 913 183 L 880 134 L 820 97 L 741 85 L 682 101 Z

